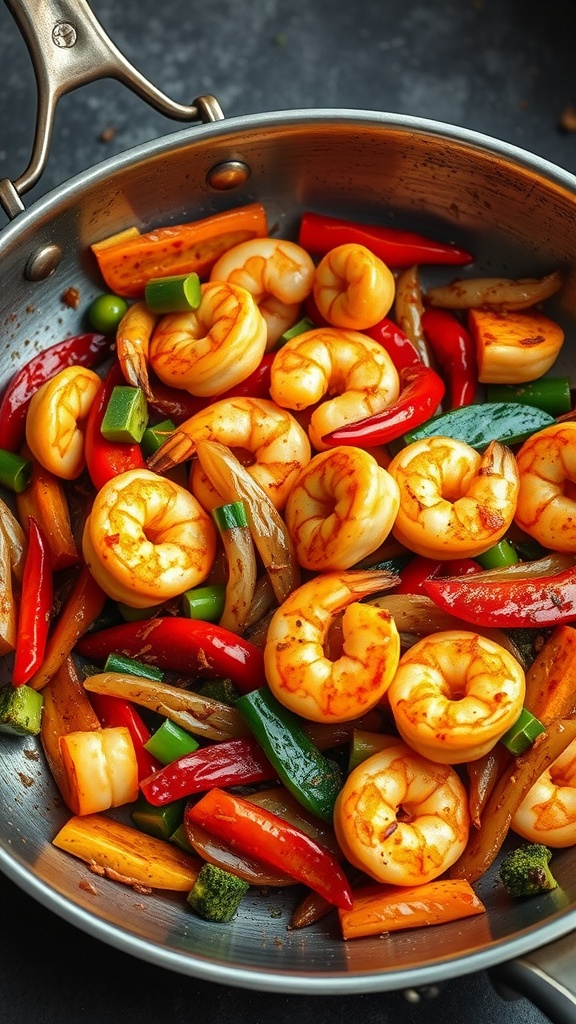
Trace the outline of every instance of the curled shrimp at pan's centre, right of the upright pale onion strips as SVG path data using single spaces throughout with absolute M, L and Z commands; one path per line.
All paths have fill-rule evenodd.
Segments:
M 343 445 L 300 470 L 284 518 L 303 568 L 347 569 L 388 536 L 400 504 L 396 480 L 368 452 Z

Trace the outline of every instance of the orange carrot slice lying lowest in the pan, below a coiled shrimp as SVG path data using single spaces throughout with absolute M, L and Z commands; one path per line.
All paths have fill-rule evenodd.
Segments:
M 421 886 L 366 886 L 354 893 L 351 910 L 338 910 L 344 939 L 405 928 L 460 921 L 486 907 L 468 882 L 437 879 Z

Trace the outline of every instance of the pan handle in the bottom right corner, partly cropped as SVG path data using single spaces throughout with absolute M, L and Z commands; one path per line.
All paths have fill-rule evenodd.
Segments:
M 490 979 L 502 998 L 524 996 L 549 1018 L 551 1024 L 576 1020 L 574 934 L 490 970 Z

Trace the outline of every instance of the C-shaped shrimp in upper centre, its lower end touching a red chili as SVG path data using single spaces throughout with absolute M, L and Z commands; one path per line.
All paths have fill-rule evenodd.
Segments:
M 318 452 L 322 437 L 390 406 L 400 393 L 387 352 L 360 331 L 317 328 L 286 342 L 272 365 L 270 393 L 284 409 L 314 410 L 308 435 Z M 335 395 L 321 401 L 327 395 Z

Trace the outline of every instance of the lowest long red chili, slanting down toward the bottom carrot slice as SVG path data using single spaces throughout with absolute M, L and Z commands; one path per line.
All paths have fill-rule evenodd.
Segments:
M 335 906 L 352 906 L 349 882 L 332 854 L 271 811 L 215 788 L 187 808 L 187 819 L 234 849 L 286 871 Z

